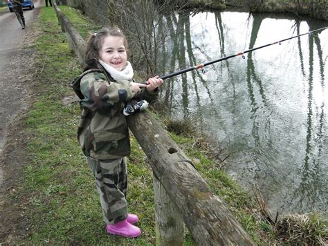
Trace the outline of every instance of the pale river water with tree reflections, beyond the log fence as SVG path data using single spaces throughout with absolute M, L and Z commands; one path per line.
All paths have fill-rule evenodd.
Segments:
M 172 18 L 163 73 L 328 26 L 288 15 L 199 12 Z M 165 80 L 176 118 L 197 118 L 224 167 L 256 184 L 273 216 L 327 211 L 328 28 Z

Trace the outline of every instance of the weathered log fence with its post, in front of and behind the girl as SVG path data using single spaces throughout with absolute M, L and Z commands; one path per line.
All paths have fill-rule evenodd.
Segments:
M 71 47 L 83 64 L 84 40 L 53 3 Z M 183 245 L 184 225 L 197 245 L 255 245 L 192 161 L 147 112 L 127 116 L 129 129 L 154 173 L 156 245 Z

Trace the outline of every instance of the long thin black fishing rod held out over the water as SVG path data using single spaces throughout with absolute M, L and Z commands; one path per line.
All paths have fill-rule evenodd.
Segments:
M 210 64 L 214 64 L 214 63 L 217 63 L 217 62 L 221 62 L 221 61 L 223 61 L 223 60 L 228 60 L 228 59 L 230 59 L 230 58 L 234 58 L 235 56 L 238 56 L 238 55 L 243 55 L 243 58 L 244 58 L 244 54 L 245 54 L 245 53 L 249 53 L 249 52 L 252 52 L 252 51 L 256 51 L 257 49 L 262 49 L 262 48 L 264 48 L 264 47 L 271 46 L 271 45 L 273 45 L 273 44 L 281 44 L 281 42 L 284 42 L 284 41 L 289 40 L 289 39 L 293 39 L 293 38 L 295 38 L 295 37 L 300 37 L 300 36 L 302 36 L 302 35 L 307 35 L 307 34 L 311 35 L 312 33 L 317 32 L 318 30 L 323 30 L 323 29 L 326 29 L 326 28 L 328 28 L 328 26 L 323 27 L 323 28 L 319 28 L 319 29 L 316 29 L 316 30 L 311 30 L 311 31 L 309 31 L 308 33 L 302 33 L 302 34 L 300 34 L 300 35 L 296 35 L 296 36 L 293 36 L 293 37 L 288 37 L 288 38 L 286 38 L 286 39 L 282 39 L 282 40 L 280 40 L 280 41 L 273 42 L 272 44 L 265 44 L 265 45 L 262 45 L 262 46 L 259 46 L 259 47 L 253 48 L 253 49 L 249 49 L 249 50 L 247 50 L 247 51 L 238 52 L 238 53 L 236 53 L 236 54 L 234 54 L 234 55 L 228 55 L 228 56 L 226 56 L 226 57 L 224 57 L 224 58 L 220 58 L 220 59 L 213 60 L 213 61 L 210 61 L 210 62 L 201 63 L 201 64 L 198 64 L 198 65 L 196 65 L 196 66 L 194 66 L 194 67 L 189 67 L 189 68 L 187 68 L 187 69 L 182 69 L 182 70 L 180 70 L 180 71 L 176 71 L 176 72 L 174 72 L 174 73 L 166 74 L 165 76 L 161 76 L 160 78 L 163 79 L 163 80 L 165 80 L 165 79 L 167 79 L 167 78 L 171 78 L 171 77 L 177 76 L 177 75 L 179 75 L 179 74 L 181 74 L 181 73 L 187 73 L 188 71 L 192 71 L 192 70 L 195 70 L 195 69 L 201 69 L 202 67 L 206 67 L 206 66 L 208 66 L 208 65 L 210 65 Z

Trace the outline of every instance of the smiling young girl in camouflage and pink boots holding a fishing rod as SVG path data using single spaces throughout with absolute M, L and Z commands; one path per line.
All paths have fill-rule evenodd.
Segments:
M 118 28 L 102 28 L 91 35 L 86 64 L 72 84 L 82 107 L 78 139 L 95 177 L 107 233 L 137 237 L 141 230 L 132 224 L 138 216 L 127 213 L 130 143 L 122 109 L 131 98 L 155 91 L 163 80 L 155 76 L 147 85 L 133 82 L 127 39 Z

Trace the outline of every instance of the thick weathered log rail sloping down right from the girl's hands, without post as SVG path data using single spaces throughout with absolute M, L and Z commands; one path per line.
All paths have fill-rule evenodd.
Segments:
M 127 116 L 127 124 L 197 245 L 255 245 L 190 159 L 148 112 Z

